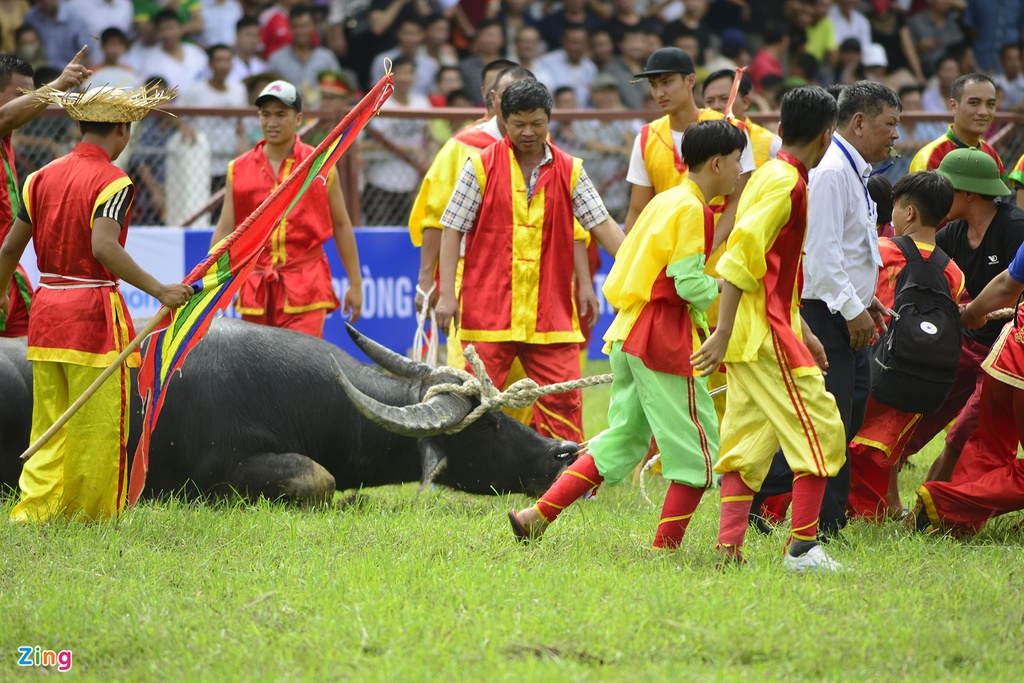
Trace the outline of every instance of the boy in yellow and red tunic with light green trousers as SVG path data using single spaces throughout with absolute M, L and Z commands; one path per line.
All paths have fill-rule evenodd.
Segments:
M 532 508 L 509 513 L 519 540 L 538 539 L 572 501 L 602 481 L 614 485 L 643 459 L 651 435 L 672 481 L 654 548 L 677 548 L 700 497 L 713 485 L 718 417 L 708 380 L 694 377 L 694 338 L 708 334 L 705 311 L 718 283 L 705 274 L 715 219 L 708 199 L 728 195 L 739 177 L 743 133 L 724 121 L 686 131 L 689 177 L 657 195 L 618 250 L 604 296 L 618 309 L 605 334 L 610 348 L 608 428 Z

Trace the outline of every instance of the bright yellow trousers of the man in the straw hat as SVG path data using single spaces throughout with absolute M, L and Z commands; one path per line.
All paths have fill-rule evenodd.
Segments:
M 35 442 L 102 372 L 67 362 L 32 365 L 32 441 Z M 120 381 L 119 381 L 120 380 Z M 124 508 L 128 459 L 128 373 L 108 379 L 25 464 L 22 500 L 11 521 L 117 518 Z

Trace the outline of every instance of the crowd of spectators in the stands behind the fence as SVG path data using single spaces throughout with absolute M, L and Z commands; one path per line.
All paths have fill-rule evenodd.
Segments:
M 88 44 L 93 83 L 160 78 L 178 88 L 177 103 L 216 109 L 245 106 L 272 76 L 315 110 L 325 78 L 332 95 L 354 97 L 383 75 L 385 59 L 402 83 L 391 106 L 480 105 L 481 67 L 507 57 L 532 71 L 558 106 L 653 114 L 633 74 L 674 45 L 692 55 L 698 83 L 746 67 L 752 111 L 777 109 L 799 85 L 866 78 L 896 89 L 904 111 L 945 112 L 952 82 L 980 71 L 995 79 L 1000 110 L 1024 113 L 1022 29 L 1020 0 L 0 0 L 0 51 L 47 73 Z M 636 121 L 574 122 L 555 134 L 570 152 L 618 159 Z M 222 180 L 217 168 L 252 144 L 253 131 L 194 123 L 185 142 L 197 132 L 209 138 Z M 362 182 L 414 184 L 452 131 L 418 125 L 377 127 L 391 158 L 371 154 Z M 903 146 L 920 146 L 935 128 L 905 127 Z M 377 189 L 395 194 L 393 185 Z M 374 219 L 400 223 L 404 200 L 387 199 Z

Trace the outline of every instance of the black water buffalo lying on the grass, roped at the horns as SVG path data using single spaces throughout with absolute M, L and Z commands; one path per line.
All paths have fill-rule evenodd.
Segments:
M 574 457 L 574 443 L 543 437 L 502 413 L 443 433 L 476 403 L 454 394 L 422 398 L 433 384 L 458 380 L 349 331 L 380 367 L 307 335 L 215 321 L 170 382 L 150 445 L 145 496 L 237 492 L 317 502 L 335 488 L 406 481 L 540 496 Z M 24 379 L 29 366 L 20 365 L 17 373 L 0 365 L 0 386 L 7 375 Z M 28 395 L 22 412 L 31 412 L 31 388 Z M 129 454 L 142 424 L 138 403 Z M 25 415 L 18 424 L 28 424 Z M 16 462 L 25 431 L 5 460 Z

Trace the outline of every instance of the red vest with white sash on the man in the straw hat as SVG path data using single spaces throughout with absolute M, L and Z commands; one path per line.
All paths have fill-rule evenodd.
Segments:
M 29 359 L 102 367 L 135 336 L 117 278 L 92 255 L 92 216 L 128 176 L 100 147 L 80 142 L 75 150 L 33 173 L 25 201 L 40 288 L 32 300 Z M 124 247 L 128 216 L 118 237 Z M 106 286 L 96 285 L 110 282 Z M 127 338 L 127 339 L 126 339 Z M 138 357 L 130 359 L 137 365 Z

